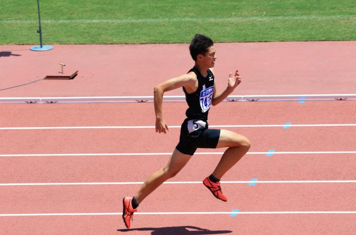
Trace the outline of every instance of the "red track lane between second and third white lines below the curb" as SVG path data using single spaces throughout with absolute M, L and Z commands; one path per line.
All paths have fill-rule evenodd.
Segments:
M 220 157 L 195 155 L 170 181 L 201 181 L 213 172 Z M 356 154 L 246 155 L 222 180 L 354 180 L 355 157 Z M 168 155 L 2 157 L 0 168 L 6 171 L 0 172 L 0 178 L 1 183 L 143 182 L 168 159 Z

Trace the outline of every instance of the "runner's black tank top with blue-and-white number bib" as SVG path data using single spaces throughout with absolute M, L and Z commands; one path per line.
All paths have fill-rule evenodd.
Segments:
M 189 70 L 194 72 L 198 79 L 198 89 L 189 94 L 183 87 L 185 100 L 189 108 L 186 110 L 186 120 L 202 120 L 207 122 L 207 114 L 212 106 L 214 75 L 210 69 L 207 70 L 207 76 L 203 77 L 196 67 Z

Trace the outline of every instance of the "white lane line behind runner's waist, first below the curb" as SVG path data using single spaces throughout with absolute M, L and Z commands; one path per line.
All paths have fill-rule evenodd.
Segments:
M 283 125 L 210 125 L 216 127 L 284 127 Z M 347 127 L 356 124 L 290 124 L 288 127 Z M 181 126 L 169 126 L 170 128 L 180 128 Z M 52 129 L 145 129 L 155 128 L 155 126 L 87 126 L 87 127 L 0 127 L 0 130 L 52 130 Z

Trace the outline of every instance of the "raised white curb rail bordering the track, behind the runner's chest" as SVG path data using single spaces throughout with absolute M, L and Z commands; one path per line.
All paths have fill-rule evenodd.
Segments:
M 228 96 L 224 101 L 301 101 L 301 100 L 337 100 L 356 99 L 356 94 L 318 94 L 318 95 L 239 95 Z M 153 96 L 118 96 L 118 97 L 0 97 L 0 102 L 66 103 L 66 102 L 152 102 Z M 164 96 L 164 102 L 182 101 L 184 96 Z

